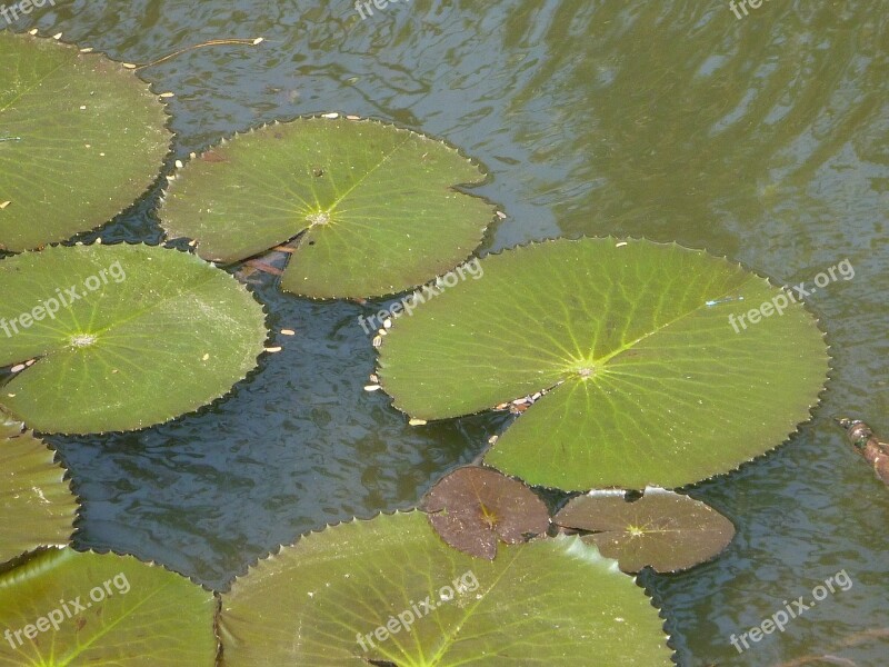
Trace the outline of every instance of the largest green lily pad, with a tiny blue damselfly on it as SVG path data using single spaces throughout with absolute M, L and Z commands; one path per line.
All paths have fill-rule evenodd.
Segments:
M 701 251 L 557 240 L 481 267 L 483 279 L 394 320 L 378 375 L 417 419 L 549 389 L 486 457 L 532 485 L 668 488 L 727 472 L 807 420 L 827 378 L 815 318 Z M 751 323 L 748 311 L 772 300 L 783 315 Z

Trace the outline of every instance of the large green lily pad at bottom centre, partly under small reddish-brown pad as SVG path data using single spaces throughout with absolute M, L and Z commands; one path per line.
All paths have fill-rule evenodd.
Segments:
M 421 512 L 328 528 L 222 596 L 227 667 L 671 665 L 662 621 L 617 563 L 577 537 L 442 542 Z

